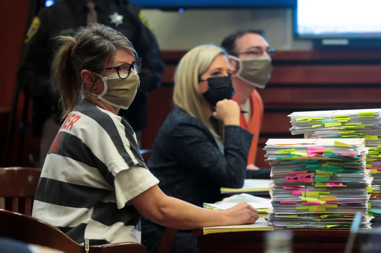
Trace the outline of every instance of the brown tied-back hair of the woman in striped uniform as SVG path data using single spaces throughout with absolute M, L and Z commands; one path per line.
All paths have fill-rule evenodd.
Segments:
M 65 118 L 81 101 L 82 70 L 101 73 L 118 49 L 132 52 L 137 58 L 131 42 L 110 27 L 93 24 L 82 27 L 75 35 L 56 37 L 61 45 L 52 62 L 52 79 L 61 95 Z

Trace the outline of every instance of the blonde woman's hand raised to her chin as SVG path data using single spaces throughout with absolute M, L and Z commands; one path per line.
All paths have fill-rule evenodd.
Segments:
M 216 104 L 216 111 L 213 117 L 223 121 L 225 125 L 240 125 L 240 108 L 237 102 L 224 99 Z

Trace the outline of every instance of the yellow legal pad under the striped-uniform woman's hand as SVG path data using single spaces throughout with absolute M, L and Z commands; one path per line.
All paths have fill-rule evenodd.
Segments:
M 220 226 L 203 228 L 204 235 L 212 233 L 243 232 L 243 231 L 266 231 L 274 230 L 272 226 L 264 219 L 259 218 L 255 224 L 239 226 Z

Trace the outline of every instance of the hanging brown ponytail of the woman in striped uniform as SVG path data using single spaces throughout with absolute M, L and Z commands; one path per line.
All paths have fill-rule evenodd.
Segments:
M 72 62 L 72 53 L 77 42 L 69 36 L 56 37 L 61 44 L 52 62 L 52 77 L 61 94 L 61 104 L 64 109 L 62 118 L 73 110 L 81 100 L 82 84 L 78 83 L 77 71 Z

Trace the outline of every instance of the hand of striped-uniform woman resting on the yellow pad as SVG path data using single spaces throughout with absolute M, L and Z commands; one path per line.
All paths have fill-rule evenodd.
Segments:
M 245 202 L 239 202 L 234 207 L 221 212 L 226 214 L 227 226 L 254 224 L 259 219 L 258 210 Z

